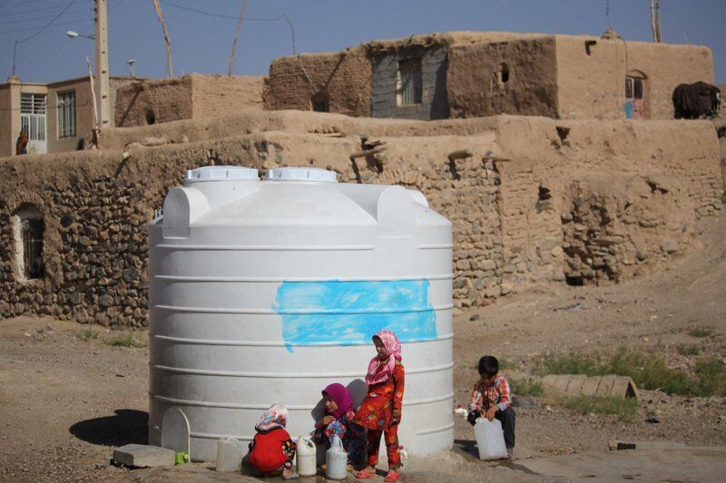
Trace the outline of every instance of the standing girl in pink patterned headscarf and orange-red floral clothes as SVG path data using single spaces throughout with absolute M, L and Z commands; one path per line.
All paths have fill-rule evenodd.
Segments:
M 353 422 L 368 429 L 368 467 L 356 473 L 357 478 L 375 478 L 381 433 L 385 434 L 388 454 L 388 475 L 384 481 L 400 476 L 401 456 L 398 453 L 398 423 L 401 422 L 404 369 L 401 343 L 395 333 L 383 330 L 373 336 L 378 355 L 368 363 L 368 394 L 360 403 Z

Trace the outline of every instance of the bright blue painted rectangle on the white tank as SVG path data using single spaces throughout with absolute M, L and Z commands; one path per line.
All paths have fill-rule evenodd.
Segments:
M 403 343 L 434 339 L 428 286 L 428 280 L 283 282 L 272 308 L 282 316 L 286 343 L 369 342 L 382 329 Z

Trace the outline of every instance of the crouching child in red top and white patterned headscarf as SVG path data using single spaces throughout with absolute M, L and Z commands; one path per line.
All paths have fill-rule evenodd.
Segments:
M 285 430 L 287 422 L 288 408 L 273 404 L 255 426 L 257 434 L 250 441 L 250 462 L 263 475 L 282 470 L 282 478 L 298 478 L 298 473 L 292 470 L 296 447 Z

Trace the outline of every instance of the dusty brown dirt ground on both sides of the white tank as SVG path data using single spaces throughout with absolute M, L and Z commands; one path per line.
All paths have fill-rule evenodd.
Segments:
M 672 368 L 687 371 L 702 357 L 726 361 L 726 213 L 705 220 L 701 237 L 704 248 L 699 254 L 658 275 L 623 285 L 543 285 L 458 315 L 456 403 L 466 404 L 468 389 L 476 379 L 476 360 L 484 353 L 514 364 L 505 372 L 515 376 L 531 370 L 536 357 L 546 352 L 577 351 L 606 357 L 620 346 L 662 354 Z M 714 330 L 708 337 L 687 333 L 693 327 L 706 326 Z M 146 438 L 146 333 L 134 333 L 140 347 L 112 347 L 103 340 L 113 334 L 98 326 L 92 326 L 98 331 L 96 338 L 83 340 L 81 335 L 88 327 L 50 318 L 0 321 L 0 479 L 244 479 L 222 477 L 203 465 L 186 465 L 188 468 L 176 471 L 129 471 L 110 466 L 113 446 Z M 679 343 L 695 344 L 701 352 L 679 355 Z M 673 469 L 672 480 L 711 479 L 726 470 L 722 468 L 726 398 L 684 398 L 660 391 L 641 391 L 641 395 L 641 409 L 633 422 L 613 416 L 574 415 L 542 400 L 536 408 L 519 408 L 517 459 L 507 465 L 472 458 L 472 430 L 466 421 L 456 418 L 455 449 L 434 459 L 411 460 L 406 479 L 662 479 L 668 478 L 667 465 L 658 464 L 658 478 L 655 472 L 648 474 L 648 469 L 636 469 L 645 460 L 677 458 L 701 461 L 694 468 L 705 473 L 698 478 L 692 472 L 697 469 L 688 467 L 691 473 L 685 476 L 681 474 L 684 469 Z M 672 453 L 649 449 L 641 457 L 621 458 L 617 455 L 632 452 L 608 452 L 611 439 L 672 441 L 685 443 L 687 449 Z M 721 449 L 695 449 L 717 446 Z M 617 458 L 620 466 L 612 461 Z M 635 469 L 628 469 L 631 467 Z M 598 473 L 600 469 L 621 472 Z

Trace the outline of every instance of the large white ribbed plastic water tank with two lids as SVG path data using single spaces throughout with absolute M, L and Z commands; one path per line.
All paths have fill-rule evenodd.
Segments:
M 451 248 L 418 191 L 323 169 L 188 171 L 151 227 L 151 444 L 214 460 L 276 402 L 308 434 L 329 383 L 362 399 L 371 335 L 388 328 L 406 367 L 401 444 L 449 449 Z

